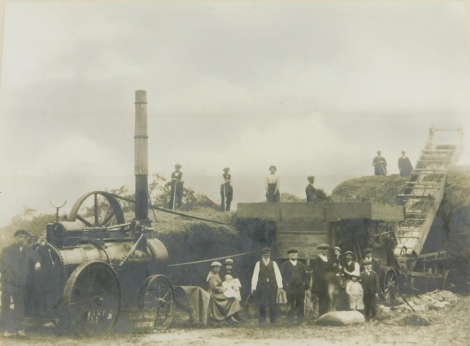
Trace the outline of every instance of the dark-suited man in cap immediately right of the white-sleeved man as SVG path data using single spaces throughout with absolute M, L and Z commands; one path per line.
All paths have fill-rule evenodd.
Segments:
M 288 321 L 295 322 L 297 316 L 297 323 L 301 323 L 304 319 L 305 291 L 308 290 L 309 276 L 305 265 L 297 260 L 299 252 L 296 249 L 290 249 L 287 255 L 289 260 L 281 265 L 281 275 L 287 302 L 291 305 Z

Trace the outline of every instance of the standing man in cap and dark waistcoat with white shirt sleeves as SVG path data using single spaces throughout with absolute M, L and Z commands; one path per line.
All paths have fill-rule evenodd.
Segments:
M 275 324 L 277 320 L 276 298 L 282 292 L 281 271 L 276 262 L 271 260 L 271 249 L 262 249 L 261 260 L 256 262 L 251 278 L 251 295 L 256 294 L 259 299 L 260 325 L 266 324 L 266 307 L 269 307 L 269 322 Z

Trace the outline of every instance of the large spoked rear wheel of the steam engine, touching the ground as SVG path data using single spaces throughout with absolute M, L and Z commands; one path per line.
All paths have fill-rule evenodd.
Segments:
M 64 303 L 68 328 L 82 336 L 109 334 L 121 307 L 116 273 L 104 262 L 81 264 L 67 280 Z

